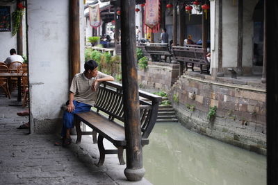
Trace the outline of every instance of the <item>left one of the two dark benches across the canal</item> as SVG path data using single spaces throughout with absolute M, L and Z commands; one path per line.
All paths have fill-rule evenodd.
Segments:
M 172 57 L 172 52 L 168 44 L 164 43 L 146 43 L 145 49 L 151 55 L 152 61 L 156 62 L 157 60 L 161 62 L 161 55 L 164 55 L 165 62 L 167 62 L 167 56 L 170 58 Z

